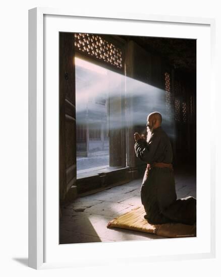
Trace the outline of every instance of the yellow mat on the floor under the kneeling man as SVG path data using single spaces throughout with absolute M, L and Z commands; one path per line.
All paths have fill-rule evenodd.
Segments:
M 196 226 L 181 223 L 153 225 L 144 219 L 143 206 L 136 207 L 130 212 L 107 223 L 107 228 L 121 228 L 144 233 L 156 234 L 166 238 L 196 237 Z

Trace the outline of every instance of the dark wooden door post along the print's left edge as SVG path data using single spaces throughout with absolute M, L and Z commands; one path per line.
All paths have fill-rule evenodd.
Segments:
M 73 33 L 59 34 L 59 187 L 60 199 L 76 183 L 76 109 Z

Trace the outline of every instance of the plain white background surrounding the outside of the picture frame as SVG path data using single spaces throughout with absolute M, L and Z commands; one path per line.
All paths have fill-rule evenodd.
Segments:
M 218 82 L 221 64 L 221 17 L 219 1 L 210 0 L 205 3 L 199 0 L 155 0 L 131 1 L 99 0 L 79 1 L 44 0 L 44 1 L 12 1 L 1 4 L 0 32 L 0 178 L 1 178 L 1 217 L 0 217 L 0 274 L 2 276 L 60 276 L 61 274 L 81 276 L 116 276 L 123 274 L 170 275 L 170 276 L 214 276 L 221 272 L 220 262 L 220 188 L 221 178 L 218 176 L 220 164 L 220 146 L 216 149 L 216 218 L 217 218 L 217 258 L 209 260 L 174 261 L 146 264 L 129 264 L 127 268 L 118 266 L 85 267 L 40 270 L 27 267 L 28 258 L 28 9 L 34 7 L 66 8 L 81 12 L 87 9 L 91 14 L 99 12 L 146 13 L 153 15 L 192 16 L 216 19 L 216 80 Z M 108 10 L 107 10 L 108 9 Z M 219 52 L 218 52 L 219 50 Z M 218 83 L 217 83 L 218 84 Z M 221 103 L 218 86 L 216 88 L 217 117 Z M 215 120 L 215 119 L 214 119 Z M 221 140 L 217 124 L 217 142 Z M 215 135 L 215 134 L 214 134 Z M 206 147 L 206 144 L 205 144 Z M 206 162 L 206 161 L 205 161 Z M 208 184 L 209 185 L 209 184 Z M 216 271 L 216 273 L 215 273 Z

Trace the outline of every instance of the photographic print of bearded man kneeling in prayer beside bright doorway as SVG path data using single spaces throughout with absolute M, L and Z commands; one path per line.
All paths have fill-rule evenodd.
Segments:
M 59 33 L 60 244 L 196 237 L 196 40 Z

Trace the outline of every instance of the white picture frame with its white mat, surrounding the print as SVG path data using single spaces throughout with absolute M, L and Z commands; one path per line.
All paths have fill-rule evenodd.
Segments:
M 72 22 L 73 21 L 73 22 Z M 81 26 L 77 24 L 81 21 Z M 58 148 L 58 138 L 54 139 L 51 146 L 48 146 L 48 139 L 45 136 L 47 128 L 50 128 L 50 135 L 58 134 L 58 125 L 50 126 L 50 113 L 56 113 L 58 108 L 58 80 L 54 86 L 50 87 L 51 80 L 58 74 L 58 30 L 67 32 L 94 32 L 97 23 L 102 22 L 102 28 L 108 29 L 105 33 L 116 33 L 118 24 L 121 26 L 131 24 L 127 29 L 127 34 L 143 34 L 145 24 L 148 24 L 148 34 L 156 34 L 160 26 L 165 26 L 164 37 L 186 37 L 196 38 L 199 41 L 197 45 L 197 94 L 200 96 L 197 100 L 197 183 L 201 182 L 202 186 L 197 186 L 197 211 L 203 208 L 203 199 L 208 197 L 209 206 L 207 212 L 204 211 L 211 223 L 202 231 L 202 218 L 197 212 L 197 233 L 196 238 L 189 239 L 170 239 L 154 240 L 154 242 L 113 242 L 113 243 L 84 243 L 75 245 L 55 245 L 58 238 L 58 221 L 59 221 L 59 197 L 58 193 L 58 175 L 52 173 L 58 169 L 58 153 L 54 149 Z M 108 24 L 112 22 L 112 27 Z M 90 24 L 88 24 L 90 23 Z M 106 27 L 105 27 L 106 24 Z M 145 25 L 145 26 L 144 26 Z M 82 27 L 83 26 L 83 27 Z M 89 28 L 90 26 L 90 28 Z M 142 27 L 143 26 L 143 27 Z M 107 28 L 108 27 L 108 28 Z M 120 27 L 120 26 L 119 26 Z M 48 29 L 49 28 L 49 29 Z M 50 29 L 53 28 L 53 29 Z M 89 29 L 88 29 L 89 28 Z M 98 33 L 102 33 L 99 27 Z M 185 29 L 186 28 L 186 29 Z M 172 29 L 175 30 L 174 33 Z M 187 32 L 188 29 L 188 32 Z M 104 30 L 104 29 L 103 29 Z M 191 33 L 192 30 L 192 33 Z M 123 29 L 118 28 L 119 34 Z M 152 33 L 151 33 L 152 32 Z M 206 166 L 199 159 L 199 153 L 204 147 L 204 142 L 200 140 L 204 133 L 204 124 L 211 124 L 212 116 L 215 114 L 215 90 L 214 90 L 214 38 L 215 38 L 215 21 L 207 18 L 190 18 L 190 17 L 169 17 L 153 16 L 145 14 L 76 14 L 71 11 L 35 8 L 29 10 L 29 266 L 35 269 L 54 268 L 54 267 L 75 267 L 85 264 L 105 265 L 112 259 L 113 262 L 138 262 L 138 261 L 162 261 L 177 259 L 193 258 L 210 258 L 215 256 L 215 165 L 212 163 L 212 157 L 215 153 L 215 141 L 212 135 L 207 135 L 207 145 L 204 155 L 208 163 Z M 123 34 L 123 33 L 122 33 Z M 136 33 L 137 34 L 137 33 Z M 138 34 L 138 35 L 139 35 Z M 177 35 L 176 35 L 177 34 Z M 53 36 L 54 35 L 54 36 Z M 49 37 L 50 36 L 50 37 Z M 203 40 L 204 39 L 204 40 Z M 204 42 L 204 46 L 203 45 Z M 48 45 L 47 45 L 48 44 Z M 47 47 L 54 45 L 47 55 Z M 46 52 L 45 52 L 46 51 Z M 202 57 L 204 58 L 202 59 Z M 57 61 L 56 61 L 57 60 Z M 209 73 L 203 70 L 207 65 Z M 51 77 L 48 77 L 49 67 Z M 51 68 L 50 68 L 51 69 Z M 207 76 L 206 76 L 207 74 Z M 48 79 L 47 79 L 48 77 Z M 205 78 L 206 77 L 206 78 Z M 54 79 L 53 79 L 54 80 Z M 54 90 L 56 93 L 53 101 L 48 105 L 46 91 Z M 207 98 L 205 95 L 207 93 Z M 50 95 L 51 96 L 51 95 Z M 207 101 L 207 102 L 206 102 Z M 203 114 L 203 106 L 208 105 L 207 117 Z M 54 106 L 53 106 L 54 105 Z M 57 118 L 58 119 L 58 118 Z M 213 124 L 213 123 L 212 123 Z M 214 125 L 211 126 L 214 128 Z M 206 153 L 205 153 L 206 152 Z M 49 165 L 49 167 L 48 167 Z M 208 170 L 209 167 L 209 170 Z M 207 170 L 207 171 L 206 171 Z M 200 174 L 201 172 L 201 174 Z M 202 177 L 202 172 L 204 176 Z M 207 182 L 207 184 L 206 184 Z M 54 191 L 50 195 L 51 184 Z M 205 186 L 209 183 L 209 193 Z M 199 187 L 199 189 L 198 189 Z M 207 187 L 208 188 L 208 187 Z M 57 191 L 56 191 L 57 189 Z M 201 200 L 202 199 L 202 200 Z M 51 233 L 51 230 L 54 230 Z M 50 237 L 48 236 L 50 233 Z M 188 241 L 191 240 L 190 243 Z M 202 244 L 203 241 L 203 244 Z M 153 243 L 154 249 L 151 253 L 142 250 L 142 245 Z M 170 244 L 170 251 L 165 252 L 163 249 Z M 192 249 L 188 249 L 192 245 Z M 134 254 L 129 253 L 133 246 Z M 184 248 L 179 250 L 179 246 Z M 185 248 L 186 247 L 186 248 Z M 151 248 L 151 247 L 150 247 Z M 171 250 L 172 249 L 172 250 Z M 177 249 L 177 250 L 176 250 Z M 139 250 L 139 251 L 138 251 Z M 190 251 L 191 250 L 191 251 Z M 75 259 L 71 259 L 71 253 L 78 252 Z M 122 251 L 122 256 L 116 253 Z M 93 253 L 91 257 L 91 253 Z M 105 253 L 105 259 L 103 253 Z M 114 254 L 115 253 L 115 254 Z M 83 258 L 84 257 L 84 258 Z

